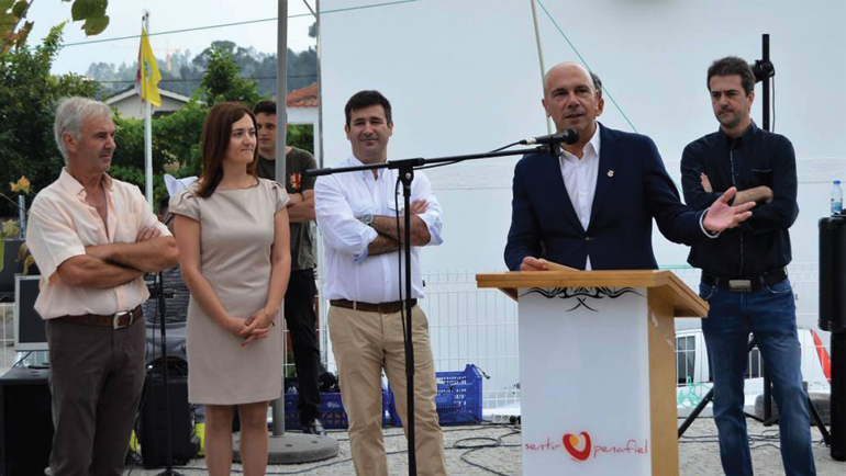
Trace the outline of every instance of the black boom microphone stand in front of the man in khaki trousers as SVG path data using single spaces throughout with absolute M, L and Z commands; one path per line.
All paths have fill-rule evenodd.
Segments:
M 452 156 L 452 157 L 438 157 L 434 159 L 424 159 L 424 158 L 416 158 L 416 159 L 404 159 L 404 160 L 389 160 L 387 162 L 381 163 L 369 163 L 365 166 L 356 166 L 356 167 L 342 167 L 342 168 L 326 168 L 326 169 L 311 169 L 307 170 L 303 173 L 305 175 L 310 177 L 318 177 L 318 175 L 331 175 L 334 173 L 346 173 L 346 172 L 356 172 L 361 170 L 378 170 L 378 169 L 396 169 L 399 171 L 399 179 L 400 182 L 402 182 L 402 199 L 404 203 L 404 224 L 405 224 L 405 230 L 403 233 L 403 249 L 405 253 L 405 299 L 404 299 L 404 307 L 405 307 L 405 327 L 404 327 L 404 343 L 405 343 L 405 378 L 407 378 L 407 387 L 405 387 L 405 396 L 407 396 L 407 406 L 408 406 L 408 415 L 405 417 L 405 429 L 408 430 L 408 440 L 409 440 L 409 475 L 416 476 L 418 474 L 418 463 L 416 463 L 416 451 L 414 449 L 414 345 L 411 342 L 411 308 L 412 306 L 412 298 L 411 298 L 411 214 L 408 213 L 409 209 L 411 209 L 411 182 L 414 180 L 414 170 L 420 169 L 424 166 L 433 166 L 436 163 L 458 163 L 465 160 L 472 160 L 472 159 L 487 159 L 492 157 L 508 157 L 508 156 L 521 156 L 525 154 L 537 154 L 537 152 L 546 152 L 546 154 L 556 154 L 557 151 L 557 145 L 554 146 L 539 146 L 531 149 L 519 149 L 519 150 L 505 150 L 505 151 L 496 151 L 496 152 L 483 152 L 483 154 L 470 154 L 465 156 Z M 343 384 L 342 384 L 343 385 Z

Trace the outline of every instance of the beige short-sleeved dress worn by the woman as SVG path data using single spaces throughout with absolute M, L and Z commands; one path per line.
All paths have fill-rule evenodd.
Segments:
M 245 190 L 194 195 L 197 184 L 170 199 L 170 212 L 200 223 L 201 270 L 232 317 L 264 307 L 270 283 L 274 215 L 288 203 L 278 183 L 258 179 Z M 283 309 L 283 306 L 280 306 Z M 282 388 L 282 314 L 267 338 L 241 347 L 197 304 L 188 305 L 188 400 L 241 405 L 274 400 Z

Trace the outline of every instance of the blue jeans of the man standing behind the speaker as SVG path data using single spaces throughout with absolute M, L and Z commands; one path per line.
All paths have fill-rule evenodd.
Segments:
M 772 381 L 784 473 L 815 475 L 790 281 L 750 293 L 733 293 L 705 284 L 700 284 L 699 290 L 700 296 L 711 305 L 708 318 L 702 319 L 702 332 L 714 378 L 713 410 L 723 472 L 726 476 L 753 475 L 743 411 L 746 349 L 752 332 Z

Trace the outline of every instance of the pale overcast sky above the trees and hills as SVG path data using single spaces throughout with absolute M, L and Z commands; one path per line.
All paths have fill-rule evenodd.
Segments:
M 214 2 L 216 3 L 216 2 Z M 133 63 L 138 55 L 138 38 L 113 39 L 138 35 L 143 11 L 149 11 L 151 33 L 210 27 L 238 22 L 268 20 L 278 16 L 277 1 L 237 0 L 214 4 L 201 0 L 112 0 L 109 2 L 109 27 L 97 36 L 86 37 L 81 22 L 65 26 L 63 48 L 53 64 L 54 73 L 85 73 L 92 63 L 119 65 Z M 314 0 L 309 0 L 314 7 Z M 30 46 L 40 45 L 49 29 L 65 20 L 70 21 L 70 4 L 60 0 L 36 0 L 26 18 L 35 22 L 29 38 Z M 314 45 L 309 37 L 309 26 L 314 22 L 302 0 L 288 1 L 288 47 L 299 52 Z M 298 16 L 299 15 L 299 16 Z M 293 16 L 293 18 L 292 18 Z M 258 52 L 276 53 L 276 21 L 264 21 L 233 26 L 210 27 L 186 33 L 167 33 L 151 36 L 154 54 L 165 59 L 167 53 L 190 50 L 197 55 L 215 39 L 235 42 L 238 46 L 253 46 Z M 74 45 L 76 43 L 99 42 Z

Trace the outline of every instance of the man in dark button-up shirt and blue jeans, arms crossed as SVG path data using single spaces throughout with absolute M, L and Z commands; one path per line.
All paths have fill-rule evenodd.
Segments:
M 732 476 L 753 474 L 743 412 L 746 344 L 752 332 L 775 386 L 784 472 L 814 475 L 795 303 L 784 271 L 791 258 L 788 228 L 799 215 L 793 146 L 752 122 L 755 79 L 746 61 L 737 57 L 714 61 L 708 70 L 708 87 L 720 131 L 684 148 L 684 200 L 704 209 L 736 186 L 736 204 L 757 203 L 748 220 L 694 245 L 688 258 L 702 269 L 700 295 L 711 306 L 702 331 L 714 376 L 723 471 Z

